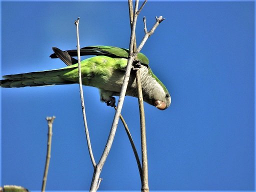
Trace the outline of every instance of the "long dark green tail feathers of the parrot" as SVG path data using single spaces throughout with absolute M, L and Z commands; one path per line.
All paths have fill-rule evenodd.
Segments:
M 70 70 L 72 70 L 72 68 L 60 68 L 54 70 L 4 75 L 3 78 L 5 79 L 0 80 L 0 87 L 12 88 L 72 84 L 75 82 L 64 79 L 62 75 Z

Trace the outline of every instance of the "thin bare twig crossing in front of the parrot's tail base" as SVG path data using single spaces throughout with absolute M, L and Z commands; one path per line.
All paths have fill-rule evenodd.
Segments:
M 76 26 L 78 75 L 79 75 L 79 87 L 80 87 L 81 108 L 82 108 L 84 130 L 85 130 L 85 135 L 86 135 L 86 140 L 87 140 L 87 146 L 88 146 L 88 150 L 89 150 L 90 160 L 91 160 L 91 163 L 93 165 L 93 168 L 95 169 L 96 162 L 94 160 L 93 153 L 92 153 L 92 148 L 91 148 L 91 145 L 90 145 L 89 130 L 88 130 L 88 126 L 87 126 L 86 115 L 85 115 L 85 107 L 84 107 L 84 100 L 83 100 L 82 78 L 81 78 L 81 62 L 80 62 L 80 60 L 81 60 L 80 59 L 80 43 L 79 43 L 79 31 L 78 31 L 79 17 L 74 21 L 74 23 L 75 23 L 75 26 Z

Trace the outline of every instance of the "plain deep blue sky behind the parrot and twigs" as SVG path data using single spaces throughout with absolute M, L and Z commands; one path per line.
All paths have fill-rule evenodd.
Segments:
M 151 190 L 254 189 L 254 2 L 148 1 L 137 42 L 155 16 L 166 18 L 142 48 L 165 84 L 171 105 L 145 103 Z M 51 47 L 128 47 L 126 1 L 1 1 L 1 75 L 65 66 Z M 46 189 L 88 190 L 93 173 L 78 84 L 0 89 L 1 185 L 40 190 L 47 141 L 46 116 L 55 115 Z M 91 144 L 101 156 L 114 109 L 84 86 Z M 137 99 L 122 109 L 140 151 Z M 140 154 L 140 152 L 139 152 Z M 103 166 L 101 190 L 140 190 L 128 138 L 118 124 Z

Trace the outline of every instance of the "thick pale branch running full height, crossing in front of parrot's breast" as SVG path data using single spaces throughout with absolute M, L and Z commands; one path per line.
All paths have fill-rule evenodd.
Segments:
M 135 11 L 137 11 L 137 7 L 138 7 L 138 0 L 135 1 Z M 128 61 L 127 61 L 127 66 L 126 66 L 126 71 L 124 74 L 124 78 L 123 78 L 123 84 L 120 90 L 120 96 L 119 96 L 119 100 L 118 100 L 118 104 L 117 104 L 117 109 L 115 111 L 115 115 L 114 115 L 114 119 L 112 122 L 112 126 L 107 138 L 107 142 L 104 148 L 104 151 L 100 157 L 100 160 L 98 162 L 98 164 L 96 165 L 96 168 L 94 169 L 94 173 L 93 173 L 93 178 L 91 181 L 91 186 L 90 186 L 90 190 L 91 191 L 95 191 L 97 188 L 97 183 L 99 181 L 99 175 L 100 172 L 102 170 L 102 167 L 105 163 L 106 157 L 109 153 L 109 150 L 111 148 L 112 142 L 113 142 L 113 138 L 115 135 L 115 131 L 117 128 L 117 124 L 119 121 L 119 116 L 121 113 L 121 108 L 123 105 L 123 100 L 124 100 L 124 96 L 125 96 L 125 92 L 127 89 L 127 85 L 128 85 L 128 80 L 129 80 L 129 76 L 130 76 L 130 70 L 131 70 L 131 66 L 132 66 L 132 62 L 136 56 L 136 54 L 132 54 L 132 46 L 133 46 L 133 41 L 134 41 L 134 34 L 135 34 L 135 26 L 136 26 L 136 20 L 137 20 L 137 14 L 133 15 L 133 22 L 132 22 L 132 31 L 131 31 L 131 35 L 130 35 L 130 44 L 129 44 L 129 56 L 128 56 Z

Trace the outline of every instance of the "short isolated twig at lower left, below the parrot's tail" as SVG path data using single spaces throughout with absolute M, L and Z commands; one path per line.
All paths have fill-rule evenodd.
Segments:
M 42 179 L 42 188 L 41 191 L 45 191 L 46 187 L 46 181 L 47 181 L 47 174 L 50 164 L 50 151 L 51 151 L 51 137 L 52 137 L 52 123 L 55 119 L 55 116 L 47 116 L 46 120 L 48 122 L 48 140 L 47 140 L 47 152 L 46 152 L 46 160 L 45 160 L 45 166 L 44 166 L 44 174 Z

